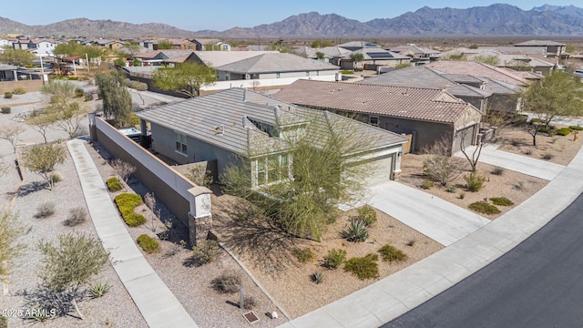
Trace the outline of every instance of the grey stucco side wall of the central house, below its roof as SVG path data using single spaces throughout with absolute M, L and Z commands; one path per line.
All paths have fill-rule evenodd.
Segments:
M 217 176 L 235 160 L 235 154 L 226 149 L 213 146 L 196 138 L 187 137 L 187 155 L 176 151 L 176 135 L 170 128 L 157 124 L 151 125 L 152 149 L 178 164 L 195 163 L 205 160 L 217 160 Z

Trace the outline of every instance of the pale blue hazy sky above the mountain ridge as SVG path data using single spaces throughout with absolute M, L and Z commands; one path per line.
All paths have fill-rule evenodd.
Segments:
M 530 10 L 540 5 L 577 5 L 580 0 L 2 0 L 0 16 L 27 25 L 46 25 L 71 18 L 111 19 L 128 23 L 163 23 L 189 31 L 252 27 L 281 21 L 291 15 L 318 12 L 366 22 L 432 8 L 468 8 L 496 3 Z M 26 5 L 23 5 L 25 4 Z M 577 5 L 583 7 L 583 5 Z M 26 9 L 25 9 L 26 8 Z

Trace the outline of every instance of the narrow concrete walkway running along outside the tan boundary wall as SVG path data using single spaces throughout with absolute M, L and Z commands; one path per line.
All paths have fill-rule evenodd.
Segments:
M 70 140 L 66 146 L 77 168 L 97 235 L 103 247 L 111 251 L 113 267 L 148 326 L 198 327 L 138 250 L 109 198 L 85 141 Z

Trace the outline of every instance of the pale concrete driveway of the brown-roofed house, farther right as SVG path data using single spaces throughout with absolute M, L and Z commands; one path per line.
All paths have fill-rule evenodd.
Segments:
M 551 163 L 548 160 L 533 159 L 504 150 L 498 150 L 497 148 L 497 145 L 484 146 L 480 153 L 479 162 L 546 180 L 555 179 L 557 174 L 565 169 L 565 166 Z M 476 146 L 468 147 L 466 153 L 469 155 L 474 149 L 476 149 Z M 461 151 L 456 152 L 455 156 L 465 158 Z

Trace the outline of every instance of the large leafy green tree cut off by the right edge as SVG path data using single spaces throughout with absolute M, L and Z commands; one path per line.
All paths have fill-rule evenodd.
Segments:
M 583 83 L 568 72 L 553 71 L 537 83 L 533 83 L 521 94 L 522 108 L 532 113 L 537 121 L 525 125 L 537 146 L 540 128 L 548 128 L 555 118 L 583 115 Z

